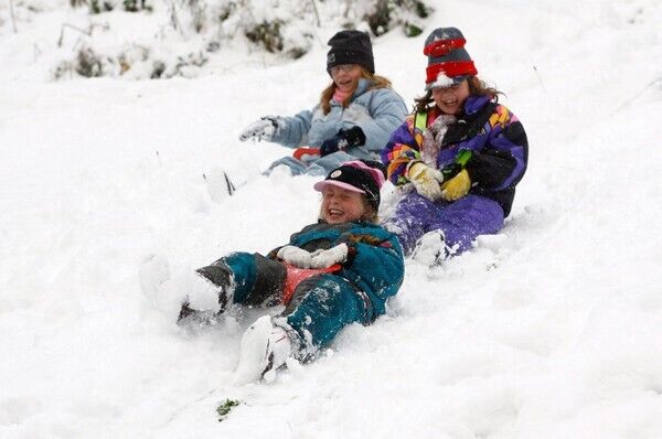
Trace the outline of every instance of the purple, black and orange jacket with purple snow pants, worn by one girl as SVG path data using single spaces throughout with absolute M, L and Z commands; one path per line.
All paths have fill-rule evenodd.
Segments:
M 392 135 L 382 150 L 388 179 L 396 185 L 408 182 L 406 168 L 423 160 L 421 147 L 430 125 L 442 115 L 435 106 L 427 111 L 426 128 L 416 127 L 416 114 Z M 470 96 L 457 120 L 436 141 L 437 169 L 456 160 L 462 150 L 471 151 L 466 170 L 471 179 L 469 193 L 455 202 L 431 202 L 416 192 L 406 195 L 387 226 L 395 231 L 406 253 L 423 234 L 440 229 L 448 246 L 462 251 L 478 235 L 498 233 L 511 211 L 515 185 L 526 171 L 528 143 L 522 124 L 506 107 L 489 96 Z

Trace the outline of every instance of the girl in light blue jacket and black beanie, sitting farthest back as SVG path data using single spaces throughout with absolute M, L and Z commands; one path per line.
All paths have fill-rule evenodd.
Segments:
M 239 136 L 280 143 L 295 150 L 270 167 L 287 165 L 293 175 L 325 175 L 341 163 L 378 160 L 388 136 L 404 122 L 407 107 L 391 88 L 391 82 L 375 75 L 370 36 L 360 31 L 341 31 L 329 40 L 327 72 L 333 82 L 311 110 L 296 116 L 266 116 Z

